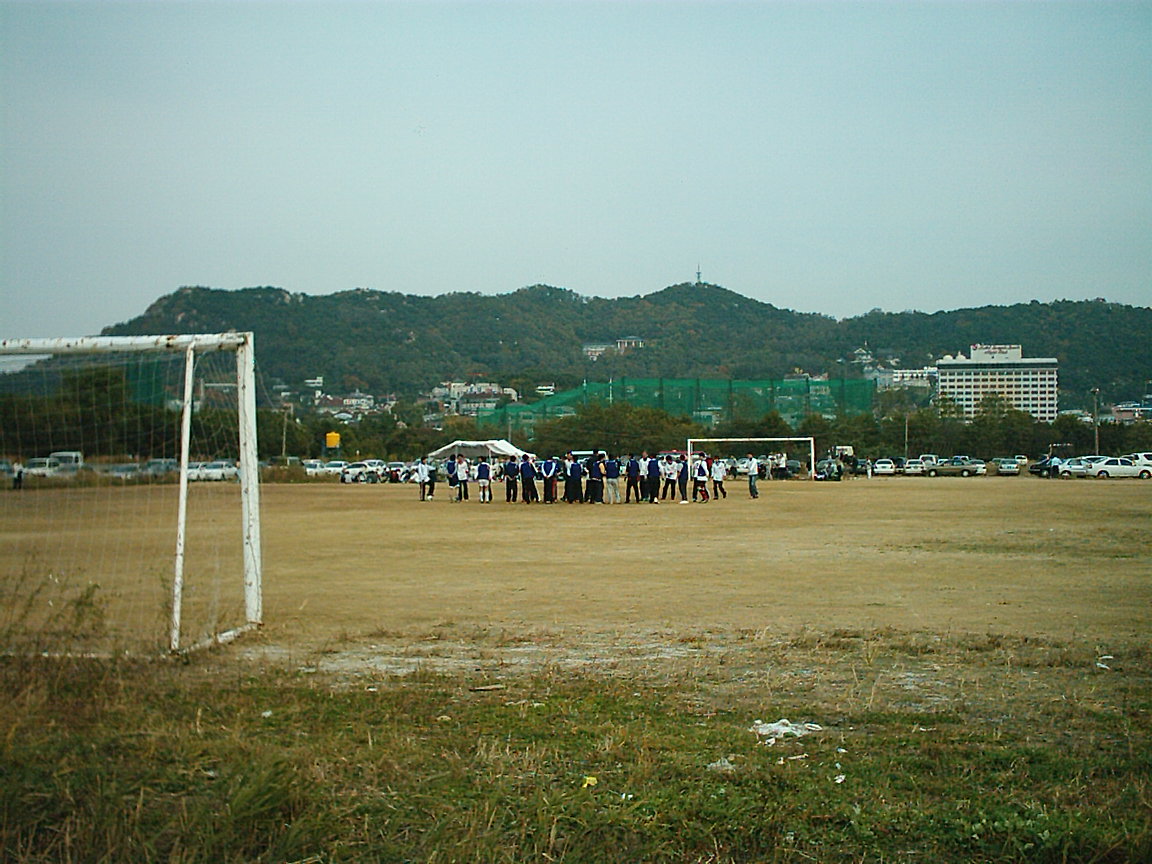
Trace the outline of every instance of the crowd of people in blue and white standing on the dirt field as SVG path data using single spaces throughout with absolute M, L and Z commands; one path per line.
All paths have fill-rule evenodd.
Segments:
M 751 453 L 748 454 L 748 492 L 759 498 L 757 480 L 764 467 Z M 420 500 L 431 501 L 440 479 L 441 469 L 432 461 L 422 458 L 416 465 L 416 482 L 420 487 Z M 537 461 L 530 454 L 508 456 L 505 461 L 488 461 L 480 456 L 475 463 L 463 454 L 450 456 L 442 468 L 448 484 L 448 500 L 471 500 L 475 484 L 480 503 L 492 502 L 492 487 L 502 484 L 507 503 L 659 503 L 676 501 L 688 503 L 688 486 L 691 482 L 692 501 L 706 503 L 728 497 L 725 483 L 728 465 L 719 458 L 700 455 L 689 464 L 684 454 L 651 456 L 645 450 L 614 456 L 596 452 L 584 458 L 573 453 L 563 458 L 548 456 Z M 623 490 L 621 490 L 623 482 Z M 711 494 L 708 484 L 712 485 Z

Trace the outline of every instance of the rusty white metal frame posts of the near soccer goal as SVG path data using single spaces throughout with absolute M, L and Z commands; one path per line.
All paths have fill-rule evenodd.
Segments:
M 250 332 L 218 334 L 180 334 L 156 336 L 82 336 L 75 339 L 3 339 L 0 355 L 138 355 L 145 353 L 183 355 L 183 387 L 179 400 L 179 499 L 176 505 L 175 547 L 172 559 L 172 592 L 168 650 L 177 652 L 198 647 L 181 639 L 181 616 L 184 605 L 184 564 L 188 540 L 189 442 L 194 403 L 196 401 L 194 369 L 197 357 L 221 351 L 234 353 L 236 359 L 235 410 L 238 427 L 238 480 L 241 535 L 243 546 L 243 615 L 244 622 L 230 629 L 213 631 L 203 643 L 221 643 L 257 628 L 263 622 L 263 564 L 260 548 L 260 494 L 257 462 L 256 373 L 253 335 Z M 233 385 L 226 385 L 232 388 Z M 204 385 L 202 382 L 202 389 Z M 203 393 L 202 396 L 203 399 Z M 172 408 L 175 409 L 175 400 Z M 229 445 L 230 449 L 230 445 Z M 2 454 L 0 454 L 2 455 Z M 240 574 L 237 574 L 238 578 Z

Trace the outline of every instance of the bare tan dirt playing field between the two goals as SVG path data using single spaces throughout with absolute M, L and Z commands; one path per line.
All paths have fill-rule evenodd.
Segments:
M 634 644 L 702 634 L 811 630 L 1003 634 L 1101 644 L 1146 637 L 1152 483 L 874 478 L 730 483 L 681 506 L 419 502 L 410 486 L 263 487 L 264 651 L 370 641 Z M 13 578 L 61 513 L 86 524 L 96 490 L 55 516 L 0 495 L 0 566 Z M 154 555 L 168 535 L 115 490 L 126 535 Z M 441 486 L 441 492 L 447 488 Z M 219 511 L 234 487 L 197 488 Z M 39 521 L 37 521 L 39 520 Z M 228 532 L 214 528 L 222 535 Z M 111 545 L 101 532 L 100 548 Z M 91 555 L 91 553 L 88 553 Z M 104 554 L 104 553 L 101 553 Z M 229 553 L 212 553 L 227 564 Z M 107 578 L 105 578 L 107 582 Z

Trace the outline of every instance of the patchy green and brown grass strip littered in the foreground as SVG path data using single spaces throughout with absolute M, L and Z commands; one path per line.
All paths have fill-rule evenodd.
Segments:
M 1101 670 L 1092 646 L 995 636 L 737 642 L 498 680 L 8 658 L 0 857 L 1152 859 L 1139 646 Z M 823 730 L 749 730 L 780 718 Z

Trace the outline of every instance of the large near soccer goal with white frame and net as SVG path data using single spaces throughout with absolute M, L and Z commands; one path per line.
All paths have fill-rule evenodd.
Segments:
M 251 333 L 0 341 L 0 650 L 259 626 Z

